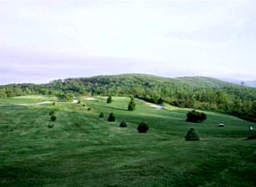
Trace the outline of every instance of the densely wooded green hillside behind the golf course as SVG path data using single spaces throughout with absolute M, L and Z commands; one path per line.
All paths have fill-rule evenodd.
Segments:
M 148 102 L 167 102 L 236 115 L 256 121 L 256 89 L 208 77 L 164 78 L 154 75 L 101 75 L 90 78 L 54 80 L 45 85 L 7 85 L 0 87 L 0 98 L 28 94 L 134 96 Z

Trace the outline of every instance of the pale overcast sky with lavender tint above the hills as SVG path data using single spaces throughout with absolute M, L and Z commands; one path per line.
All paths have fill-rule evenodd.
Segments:
M 0 1 L 0 84 L 119 73 L 256 80 L 256 1 Z

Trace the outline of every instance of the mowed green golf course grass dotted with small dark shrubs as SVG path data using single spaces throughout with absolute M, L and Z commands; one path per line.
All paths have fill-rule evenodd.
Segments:
M 256 141 L 245 140 L 252 123 L 213 112 L 188 123 L 188 109 L 158 110 L 137 99 L 133 112 L 129 98 L 80 100 L 85 106 L 0 106 L 0 186 L 256 186 Z M 57 120 L 48 128 L 51 110 Z M 115 123 L 106 120 L 110 112 Z M 142 120 L 148 133 L 137 133 Z M 184 141 L 190 127 L 200 141 Z

